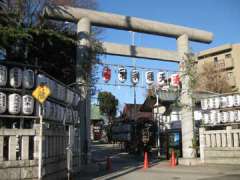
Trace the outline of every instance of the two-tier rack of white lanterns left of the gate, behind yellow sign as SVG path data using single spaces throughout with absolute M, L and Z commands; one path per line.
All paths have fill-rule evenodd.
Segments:
M 32 91 L 40 84 L 47 85 L 51 95 L 44 103 L 44 120 L 58 123 L 79 123 L 76 106 L 79 95 L 34 67 L 0 64 L 0 117 L 36 118 L 39 104 Z

